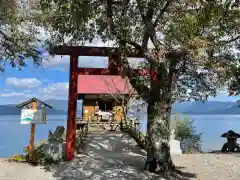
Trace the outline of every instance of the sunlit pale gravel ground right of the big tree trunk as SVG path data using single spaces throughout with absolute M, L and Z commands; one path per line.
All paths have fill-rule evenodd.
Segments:
M 200 180 L 239 180 L 239 154 L 191 154 L 175 156 L 181 170 L 197 174 Z

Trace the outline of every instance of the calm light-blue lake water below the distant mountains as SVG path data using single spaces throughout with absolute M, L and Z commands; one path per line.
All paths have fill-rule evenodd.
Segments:
M 232 129 L 240 132 L 240 115 L 187 115 L 194 119 L 196 130 L 202 135 L 203 151 L 220 149 L 225 142 L 221 138 L 223 132 Z M 49 130 L 59 125 L 66 127 L 66 115 L 48 115 L 47 124 L 37 124 L 35 142 L 46 139 Z M 142 123 L 141 129 L 146 125 Z M 15 153 L 23 153 L 23 147 L 29 144 L 30 125 L 20 124 L 20 116 L 0 116 L 0 158 L 10 157 Z

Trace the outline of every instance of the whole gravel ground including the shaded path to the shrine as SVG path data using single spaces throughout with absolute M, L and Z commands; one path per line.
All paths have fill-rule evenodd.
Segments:
M 167 178 L 143 172 L 146 153 L 127 134 L 91 133 L 73 162 L 49 167 L 0 159 L 0 180 L 239 180 L 240 155 L 173 156 L 181 171 Z

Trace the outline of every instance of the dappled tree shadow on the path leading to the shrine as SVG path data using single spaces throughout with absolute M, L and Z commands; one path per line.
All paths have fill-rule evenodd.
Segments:
M 178 168 L 168 177 L 144 173 L 146 152 L 122 132 L 91 132 L 72 162 L 50 167 L 58 180 L 189 180 L 194 174 Z

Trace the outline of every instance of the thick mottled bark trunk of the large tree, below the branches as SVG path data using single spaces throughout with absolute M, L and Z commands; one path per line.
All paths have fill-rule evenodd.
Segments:
M 169 146 L 171 105 L 155 101 L 148 104 L 148 140 L 145 170 L 167 172 L 174 169 Z

